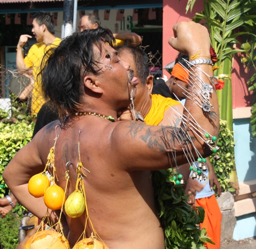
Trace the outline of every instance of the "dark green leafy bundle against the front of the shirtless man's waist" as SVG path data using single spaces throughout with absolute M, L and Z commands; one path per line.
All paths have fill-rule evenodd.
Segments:
M 200 230 L 204 208 L 187 203 L 188 196 L 181 185 L 174 185 L 171 169 L 153 172 L 156 203 L 164 228 L 166 249 L 205 249 L 211 240 L 206 230 Z

